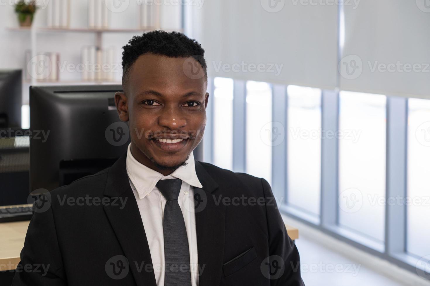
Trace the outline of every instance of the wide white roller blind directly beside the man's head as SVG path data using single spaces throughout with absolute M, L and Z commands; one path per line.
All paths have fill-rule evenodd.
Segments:
M 206 0 L 193 11 L 192 36 L 206 51 L 209 76 L 336 86 L 337 5 Z

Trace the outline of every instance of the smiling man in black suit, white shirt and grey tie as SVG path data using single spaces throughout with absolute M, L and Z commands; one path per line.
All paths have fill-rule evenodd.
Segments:
M 128 151 L 35 204 L 13 285 L 304 285 L 267 181 L 194 161 L 209 100 L 200 44 L 153 31 L 123 48 Z

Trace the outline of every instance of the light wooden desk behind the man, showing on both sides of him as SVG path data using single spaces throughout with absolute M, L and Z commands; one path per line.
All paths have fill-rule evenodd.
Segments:
M 0 271 L 14 270 L 18 265 L 29 220 L 12 223 L 0 223 Z M 298 229 L 286 225 L 289 237 L 298 238 Z

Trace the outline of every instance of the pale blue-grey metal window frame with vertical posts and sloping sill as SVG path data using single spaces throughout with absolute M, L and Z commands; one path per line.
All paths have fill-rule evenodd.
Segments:
M 287 197 L 287 85 L 272 84 L 272 121 L 283 123 L 284 140 L 272 148 L 272 191 L 277 198 L 279 211 L 292 219 L 318 229 L 340 241 L 366 253 L 392 262 L 399 267 L 424 275 L 420 259 L 406 252 L 405 204 L 385 205 L 385 243 L 378 244 L 356 232 L 338 225 L 338 139 L 321 138 L 321 202 L 320 217 L 316 220 L 305 212 L 291 208 L 285 203 Z M 233 171 L 245 172 L 246 163 L 246 81 L 233 80 Z M 209 91 L 210 92 L 210 91 Z M 387 96 L 386 114 L 386 198 L 406 196 L 407 179 L 407 128 L 408 98 Z M 322 130 L 337 131 L 339 128 L 339 90 L 324 90 L 321 95 Z M 208 116 L 208 121 L 213 118 Z M 211 126 L 207 125 L 206 128 Z M 207 131 L 206 131 L 207 132 Z M 210 132 L 210 131 L 209 131 Z M 206 138 L 207 139 L 207 138 Z M 209 143 L 206 145 L 210 146 Z M 210 153 L 210 151 L 206 151 Z M 209 159 L 209 157 L 208 157 Z M 427 261 L 424 261 L 427 262 Z

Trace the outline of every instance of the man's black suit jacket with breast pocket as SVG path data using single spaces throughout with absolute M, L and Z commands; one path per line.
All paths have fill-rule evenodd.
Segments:
M 267 181 L 197 160 L 195 166 L 203 185 L 194 188 L 200 286 L 304 285 Z M 156 286 L 126 154 L 45 199 L 12 285 Z

